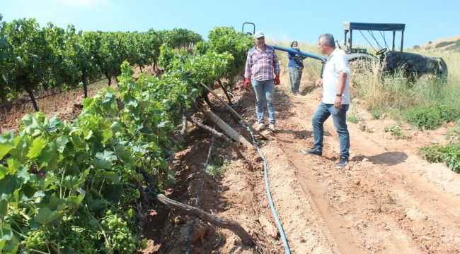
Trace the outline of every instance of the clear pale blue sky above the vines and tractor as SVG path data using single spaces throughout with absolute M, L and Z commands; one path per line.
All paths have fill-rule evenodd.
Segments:
M 308 43 L 316 42 L 318 35 L 324 32 L 332 33 L 335 40 L 343 42 L 342 23 L 345 21 L 406 23 L 405 48 L 460 35 L 460 0 L 328 2 L 0 0 L 0 13 L 6 21 L 36 18 L 40 25 L 52 22 L 65 28 L 71 23 L 77 30 L 187 28 L 204 38 L 215 26 L 234 26 L 241 30 L 244 22 L 252 22 L 266 37 Z M 358 32 L 353 35 L 360 37 Z M 358 37 L 354 37 L 354 42 L 367 44 Z

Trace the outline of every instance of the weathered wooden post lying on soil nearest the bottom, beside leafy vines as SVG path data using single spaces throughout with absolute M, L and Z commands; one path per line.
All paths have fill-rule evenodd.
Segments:
M 248 232 L 246 232 L 245 229 L 243 229 L 243 226 L 238 224 L 238 222 L 235 222 L 233 219 L 219 218 L 213 214 L 204 212 L 198 209 L 197 207 L 192 207 L 191 205 L 185 205 L 183 203 L 166 198 L 166 196 L 163 194 L 157 195 L 156 198 L 158 198 L 159 202 L 163 203 L 164 205 L 167 205 L 168 207 L 175 208 L 180 213 L 187 214 L 187 215 L 193 215 L 215 226 L 219 226 L 224 229 L 229 229 L 232 232 L 234 232 L 234 234 L 236 234 L 239 238 L 241 238 L 242 243 L 248 246 L 254 245 L 254 241 L 251 235 L 248 234 Z

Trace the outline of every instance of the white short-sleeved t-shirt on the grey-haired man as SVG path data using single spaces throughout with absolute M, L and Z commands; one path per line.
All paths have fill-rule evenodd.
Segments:
M 326 61 L 323 71 L 323 103 L 334 104 L 337 94 L 338 78 L 340 72 L 347 73 L 345 80 L 345 90 L 342 94 L 342 104 L 350 104 L 350 66 L 348 65 L 347 55 L 341 49 L 334 49 Z

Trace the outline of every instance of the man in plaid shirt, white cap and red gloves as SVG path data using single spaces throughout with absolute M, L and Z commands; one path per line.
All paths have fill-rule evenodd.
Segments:
M 246 59 L 246 71 L 243 87 L 252 84 L 255 92 L 255 112 L 259 122 L 258 129 L 265 128 L 263 116 L 262 99 L 265 97 L 268 110 L 268 121 L 270 131 L 275 131 L 275 107 L 273 106 L 274 85 L 280 85 L 280 63 L 275 53 L 275 49 L 265 44 L 263 32 L 255 32 L 255 47 L 249 49 L 248 59 Z M 275 78 L 273 78 L 275 73 Z

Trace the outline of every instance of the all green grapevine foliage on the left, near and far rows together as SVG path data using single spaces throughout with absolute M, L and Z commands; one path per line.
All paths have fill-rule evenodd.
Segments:
M 2 96 L 27 85 L 73 85 L 100 72 L 119 75 L 119 85 L 86 98 L 71 123 L 38 112 L 23 117 L 17 135 L 0 136 L 0 245 L 11 253 L 132 253 L 140 245 L 134 221 L 140 196 L 175 182 L 166 158 L 180 145 L 173 136 L 181 111 L 202 97 L 199 83 L 229 76 L 235 57 L 171 49 L 200 44 L 187 30 L 76 32 L 52 24 L 40 30 L 35 20 L 1 29 L 0 47 L 9 50 L 0 55 Z M 166 42 L 161 55 L 160 42 Z M 142 66 L 156 57 L 165 68 L 161 80 L 144 73 L 134 79 L 122 62 Z

